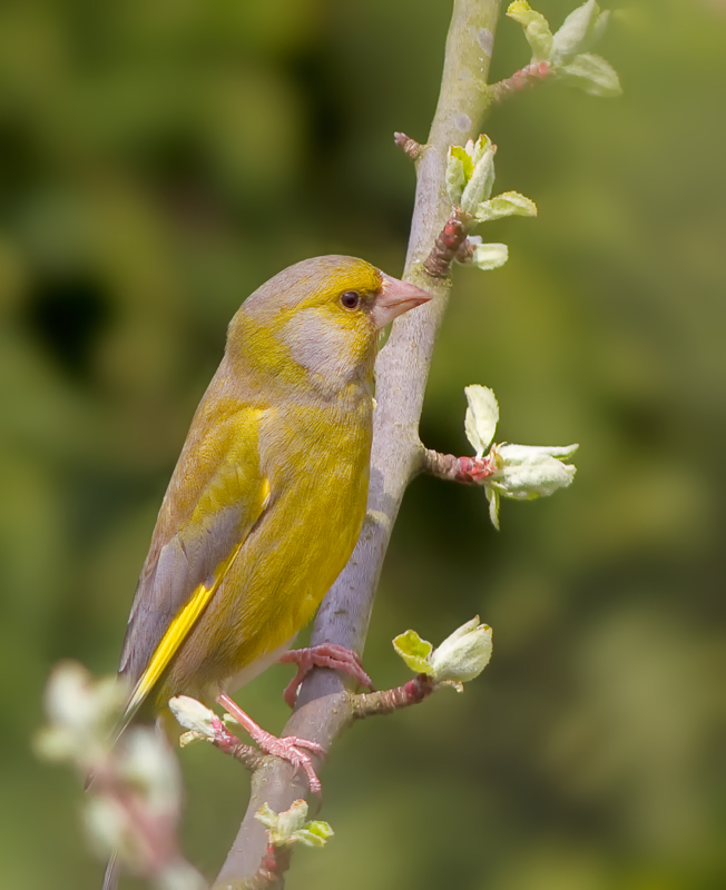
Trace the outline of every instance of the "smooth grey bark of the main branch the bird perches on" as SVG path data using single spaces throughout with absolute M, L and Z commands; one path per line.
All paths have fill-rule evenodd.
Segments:
M 395 322 L 379 356 L 367 516 L 349 564 L 318 611 L 312 645 L 335 643 L 362 653 L 393 524 L 409 482 L 423 467 L 419 418 L 451 289 L 451 278 L 429 275 L 424 263 L 451 211 L 444 182 L 449 146 L 475 138 L 492 103 L 487 76 L 500 4 L 454 0 L 439 103 L 429 140 L 415 159 L 415 207 L 403 276 L 434 299 Z M 356 716 L 353 701 L 335 672 L 316 669 L 303 683 L 283 734 L 330 750 Z M 267 802 L 282 812 L 306 793 L 304 777 L 293 775 L 283 761 L 266 762 L 255 772 L 247 812 L 215 887 L 241 888 L 258 872 L 267 849 L 265 830 L 254 818 L 259 807 Z

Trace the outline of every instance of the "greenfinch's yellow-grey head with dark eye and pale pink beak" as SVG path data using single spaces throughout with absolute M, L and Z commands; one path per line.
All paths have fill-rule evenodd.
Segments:
M 379 333 L 430 299 L 362 259 L 306 259 L 245 300 L 229 326 L 227 349 L 252 347 L 278 373 L 292 360 L 316 385 L 335 389 L 370 375 Z

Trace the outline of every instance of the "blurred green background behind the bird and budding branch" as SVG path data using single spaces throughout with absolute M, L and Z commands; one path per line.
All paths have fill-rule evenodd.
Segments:
M 559 24 L 570 0 L 541 2 Z M 0 884 L 99 886 L 76 780 L 29 739 L 59 659 L 117 663 L 166 482 L 241 300 L 307 256 L 400 274 L 450 3 L 7 0 L 0 10 Z M 367 721 L 323 781 L 336 835 L 294 890 L 726 886 L 726 4 L 624 3 L 625 93 L 521 96 L 487 131 L 510 261 L 458 269 L 428 445 L 468 453 L 463 387 L 512 442 L 580 442 L 573 487 L 504 503 L 410 488 L 365 662 L 479 613 L 465 695 Z M 528 61 L 503 20 L 492 73 Z M 286 718 L 275 666 L 241 696 Z M 216 873 L 243 770 L 182 754 L 185 847 Z

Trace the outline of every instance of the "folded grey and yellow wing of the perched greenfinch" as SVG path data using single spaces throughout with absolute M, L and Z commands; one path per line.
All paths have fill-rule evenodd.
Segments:
M 157 683 L 269 500 L 259 409 L 200 417 L 169 483 L 131 607 L 120 672 L 134 683 L 124 724 Z

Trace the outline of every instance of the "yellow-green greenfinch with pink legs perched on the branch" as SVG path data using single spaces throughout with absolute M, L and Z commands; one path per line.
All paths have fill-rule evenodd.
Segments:
M 347 562 L 365 514 L 379 336 L 430 298 L 326 256 L 244 301 L 141 570 L 120 662 L 133 689 L 124 724 L 141 705 L 164 715 L 174 695 L 216 700 L 320 787 L 307 753 L 320 748 L 269 735 L 229 692 L 290 649 Z

